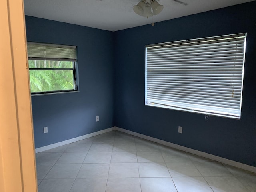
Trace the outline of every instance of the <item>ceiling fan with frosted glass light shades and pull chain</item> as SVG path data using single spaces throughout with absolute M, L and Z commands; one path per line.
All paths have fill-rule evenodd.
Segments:
M 180 0 L 172 1 L 187 5 L 187 3 L 184 3 Z M 137 5 L 133 6 L 133 10 L 136 14 L 146 18 L 159 14 L 163 9 L 164 6 L 160 5 L 156 0 L 141 0 Z M 154 25 L 154 22 L 152 23 L 152 25 Z

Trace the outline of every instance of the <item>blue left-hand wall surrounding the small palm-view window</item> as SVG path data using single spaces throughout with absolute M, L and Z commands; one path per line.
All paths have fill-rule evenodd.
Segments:
M 80 92 L 32 96 L 36 148 L 112 127 L 113 32 L 26 16 L 26 33 L 28 41 L 78 50 Z

